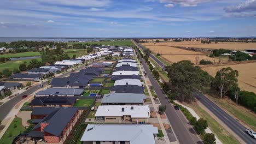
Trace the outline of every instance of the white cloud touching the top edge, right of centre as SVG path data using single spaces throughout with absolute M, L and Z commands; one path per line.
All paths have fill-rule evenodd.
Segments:
M 161 3 L 176 3 L 181 7 L 196 7 L 200 3 L 211 2 L 213 0 L 160 0 Z

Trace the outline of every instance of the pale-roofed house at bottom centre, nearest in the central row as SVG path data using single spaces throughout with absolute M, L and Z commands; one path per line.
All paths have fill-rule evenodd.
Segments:
M 158 128 L 149 124 L 88 124 L 82 139 L 84 144 L 155 144 Z

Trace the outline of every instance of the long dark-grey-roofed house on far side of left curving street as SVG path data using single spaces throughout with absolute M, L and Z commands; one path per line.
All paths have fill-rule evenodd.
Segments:
M 16 81 L 40 81 L 43 79 L 43 74 L 14 74 L 9 77 L 10 80 L 16 80 Z

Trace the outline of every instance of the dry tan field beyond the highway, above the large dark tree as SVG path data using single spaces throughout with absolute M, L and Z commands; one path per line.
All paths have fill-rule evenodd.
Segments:
M 193 63 L 196 63 L 196 57 L 199 58 L 199 61 L 201 61 L 201 59 L 205 59 L 207 61 L 212 61 L 213 63 L 218 62 L 217 58 L 207 57 L 205 56 L 206 55 L 205 53 L 201 53 L 201 52 L 182 50 L 172 46 L 150 45 L 146 47 L 151 51 L 153 51 L 154 53 L 160 53 L 162 58 L 166 59 L 171 63 L 179 62 L 183 60 L 188 60 Z

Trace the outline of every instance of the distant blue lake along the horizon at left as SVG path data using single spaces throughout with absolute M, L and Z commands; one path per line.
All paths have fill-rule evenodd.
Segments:
M 113 40 L 114 38 L 0 38 L 0 42 L 10 43 L 12 41 L 27 40 L 27 41 L 99 41 Z

